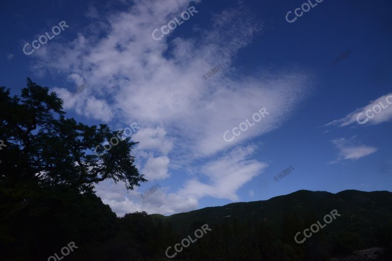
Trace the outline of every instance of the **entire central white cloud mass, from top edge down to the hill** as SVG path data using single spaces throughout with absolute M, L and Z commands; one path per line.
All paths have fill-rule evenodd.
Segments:
M 208 182 L 194 177 L 184 181 L 178 193 L 162 196 L 172 200 L 173 206 L 164 202 L 162 207 L 142 205 L 159 213 L 188 210 L 204 196 L 237 200 L 238 188 L 267 166 L 246 159 L 253 147 L 238 146 L 281 126 L 295 112 L 311 84 L 309 75 L 295 67 L 274 73 L 259 68 L 253 75 L 237 74 L 232 63 L 238 51 L 262 28 L 243 8 L 213 15 L 210 26 L 203 30 L 193 24 L 195 19 L 185 21 L 181 27 L 194 29 L 188 38 L 152 38 L 154 29 L 189 5 L 185 0 L 138 0 L 128 10 L 107 15 L 96 15 L 91 8 L 91 26 L 80 30 L 72 42 L 42 46 L 33 66 L 36 72 L 50 71 L 64 74 L 76 84 L 82 79 L 89 83 L 89 88 L 75 97 L 68 97 L 69 92 L 63 88 L 55 89 L 64 97 L 65 109 L 104 122 L 137 121 L 144 126 L 133 139 L 140 141 L 137 153 L 149 157 L 142 171 L 146 177 L 169 176 L 168 153 L 173 147 L 176 153 L 186 151 L 189 164 L 235 148 L 202 168 L 202 177 Z M 224 69 L 203 80 L 202 75 L 218 64 Z M 267 117 L 233 142 L 224 141 L 226 130 L 231 131 L 261 108 L 266 108 Z M 120 213 L 141 207 L 131 199 L 113 200 L 111 206 Z

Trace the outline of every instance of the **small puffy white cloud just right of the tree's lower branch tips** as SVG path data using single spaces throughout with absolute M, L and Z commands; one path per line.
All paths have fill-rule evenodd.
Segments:
M 145 163 L 142 173 L 148 180 L 164 179 L 169 176 L 168 164 L 169 158 L 167 156 L 159 156 L 158 158 L 152 156 Z

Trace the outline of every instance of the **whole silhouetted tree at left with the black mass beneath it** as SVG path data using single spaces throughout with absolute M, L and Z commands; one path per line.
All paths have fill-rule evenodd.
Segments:
M 83 250 L 69 260 L 91 260 L 87 249 L 118 250 L 116 216 L 92 189 L 105 179 L 130 190 L 146 181 L 134 166 L 130 138 L 94 153 L 121 132 L 67 119 L 62 104 L 30 79 L 20 97 L 0 87 L 2 260 L 46 260 L 71 241 Z M 142 249 L 135 249 L 127 254 L 140 256 Z

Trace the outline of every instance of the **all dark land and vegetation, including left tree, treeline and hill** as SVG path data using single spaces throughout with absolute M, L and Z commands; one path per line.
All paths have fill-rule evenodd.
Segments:
M 165 260 L 168 246 L 205 223 L 212 231 L 174 259 L 313 261 L 392 248 L 392 193 L 386 191 L 298 191 L 169 217 L 143 212 L 117 218 L 93 188 L 105 179 L 125 182 L 130 190 L 146 181 L 134 166 L 135 143 L 127 138 L 94 153 L 96 145 L 120 134 L 64 114 L 62 100 L 30 79 L 20 97 L 0 88 L 0 139 L 6 145 L 0 150 L 1 260 L 47 260 L 69 242 L 78 249 L 63 261 Z M 334 209 L 340 217 L 304 244 L 294 241 Z

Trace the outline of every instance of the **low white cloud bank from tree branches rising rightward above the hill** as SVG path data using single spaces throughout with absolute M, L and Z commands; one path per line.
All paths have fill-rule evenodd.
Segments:
M 236 201 L 239 200 L 237 190 L 268 166 L 266 163 L 248 160 L 255 149 L 254 146 L 238 147 L 203 165 L 201 170 L 208 181 L 190 179 L 176 193 L 167 193 L 167 188 L 161 188 L 141 199 L 141 193 L 136 188 L 135 191 L 129 191 L 129 197 L 124 197 L 127 193 L 124 184 L 114 185 L 104 181 L 96 186 L 97 195 L 118 216 L 135 211 L 163 215 L 186 212 L 197 208 L 199 199 L 206 196 Z

